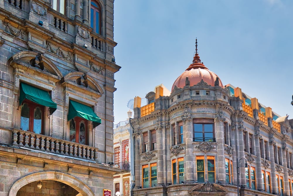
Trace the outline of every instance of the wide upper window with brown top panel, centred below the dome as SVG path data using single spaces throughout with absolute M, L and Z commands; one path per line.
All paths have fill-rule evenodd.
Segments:
M 214 120 L 213 119 L 194 119 L 194 140 L 195 142 L 215 142 Z

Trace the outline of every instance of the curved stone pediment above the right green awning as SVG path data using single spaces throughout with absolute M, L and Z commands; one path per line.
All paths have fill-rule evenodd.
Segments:
M 82 78 L 83 81 L 87 82 L 88 87 L 92 91 L 96 91 L 102 95 L 104 93 L 103 89 L 100 87 L 100 85 L 91 77 L 88 76 L 86 73 L 83 73 L 81 71 L 74 71 L 68 73 L 64 78 L 62 78 L 61 83 L 70 81 L 77 84 L 77 80 L 79 78 Z

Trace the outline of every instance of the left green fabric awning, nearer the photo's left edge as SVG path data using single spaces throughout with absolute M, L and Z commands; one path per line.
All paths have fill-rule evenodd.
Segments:
M 47 91 L 20 83 L 19 105 L 22 104 L 24 99 L 49 107 L 50 115 L 57 109 L 57 104 L 52 101 Z

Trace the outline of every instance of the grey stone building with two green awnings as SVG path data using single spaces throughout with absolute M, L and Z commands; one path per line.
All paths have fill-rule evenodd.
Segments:
M 113 193 L 113 3 L 0 1 L 0 195 Z

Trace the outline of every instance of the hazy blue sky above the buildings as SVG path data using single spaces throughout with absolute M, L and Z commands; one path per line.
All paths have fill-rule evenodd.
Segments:
M 135 96 L 161 83 L 171 91 L 192 63 L 195 38 L 223 85 L 293 118 L 292 10 L 292 0 L 115 0 L 114 124 Z

